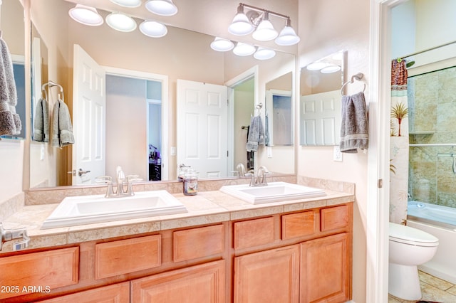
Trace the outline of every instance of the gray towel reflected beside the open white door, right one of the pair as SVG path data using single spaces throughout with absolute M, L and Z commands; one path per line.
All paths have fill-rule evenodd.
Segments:
M 53 147 L 64 147 L 69 144 L 74 144 L 70 111 L 62 100 L 58 100 L 54 105 L 52 127 Z

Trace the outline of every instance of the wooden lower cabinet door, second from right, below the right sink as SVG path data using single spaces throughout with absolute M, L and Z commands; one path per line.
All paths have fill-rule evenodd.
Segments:
M 234 302 L 299 302 L 299 245 L 236 257 Z

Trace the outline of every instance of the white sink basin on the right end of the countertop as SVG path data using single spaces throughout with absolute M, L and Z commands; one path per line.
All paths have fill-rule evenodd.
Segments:
M 225 185 L 220 191 L 252 204 L 326 196 L 321 189 L 286 182 L 271 182 L 267 186 L 257 187 L 249 184 Z

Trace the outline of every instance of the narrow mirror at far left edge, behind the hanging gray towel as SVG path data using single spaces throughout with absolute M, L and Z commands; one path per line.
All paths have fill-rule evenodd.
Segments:
M 4 138 L 23 139 L 26 135 L 26 97 L 25 97 L 25 46 L 24 46 L 24 7 L 19 0 L 4 1 L 1 5 L 1 38 L 9 50 L 11 61 L 13 63 L 14 82 L 8 78 L 3 78 L 9 84 L 14 83 L 16 86 L 16 105 L 13 106 L 16 114 L 20 119 L 20 124 L 15 124 L 14 130 L 8 133 Z M 3 66 L 3 63 L 2 63 Z M 2 73 L 4 69 L 2 68 Z M 5 75 L 5 74 L 4 74 Z M 9 85 L 8 85 L 9 86 Z M 15 100 L 11 100 L 15 102 Z M 10 103 L 10 101 L 9 101 Z M 2 110 L 3 111 L 3 110 Z M 4 117 L 4 116 L 3 116 Z M 2 118 L 4 119 L 4 118 Z M 8 128 L 8 127 L 7 127 Z M 7 129 L 4 129 L 6 131 Z

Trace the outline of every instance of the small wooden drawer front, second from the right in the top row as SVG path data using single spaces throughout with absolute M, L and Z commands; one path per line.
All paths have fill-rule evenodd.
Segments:
M 316 220 L 314 211 L 303 213 L 291 213 L 282 216 L 282 239 L 291 239 L 312 235 L 316 232 Z

